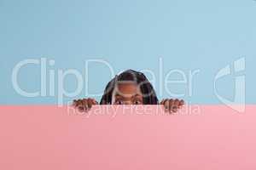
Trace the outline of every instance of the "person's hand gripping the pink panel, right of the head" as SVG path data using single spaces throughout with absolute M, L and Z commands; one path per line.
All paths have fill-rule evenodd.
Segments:
M 169 113 L 175 113 L 184 105 L 183 99 L 163 99 L 160 105 L 164 105 L 165 111 Z

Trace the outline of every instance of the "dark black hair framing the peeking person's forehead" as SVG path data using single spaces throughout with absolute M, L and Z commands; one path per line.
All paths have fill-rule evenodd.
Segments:
M 107 87 L 104 90 L 100 105 L 110 105 L 112 104 L 112 94 L 113 89 L 117 82 L 122 81 L 133 81 L 136 82 L 140 87 L 143 94 L 143 105 L 157 105 L 158 99 L 154 92 L 154 88 L 148 81 L 147 77 L 142 72 L 127 70 L 115 76 L 110 82 L 108 82 Z

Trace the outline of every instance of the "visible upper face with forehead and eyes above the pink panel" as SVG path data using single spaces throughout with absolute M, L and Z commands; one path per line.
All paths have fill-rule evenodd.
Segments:
M 121 82 L 113 90 L 113 105 L 143 105 L 143 94 L 135 82 Z

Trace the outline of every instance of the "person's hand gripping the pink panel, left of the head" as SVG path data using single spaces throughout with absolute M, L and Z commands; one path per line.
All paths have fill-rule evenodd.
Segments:
M 89 111 L 92 105 L 98 105 L 96 99 L 74 99 L 73 106 L 79 111 Z

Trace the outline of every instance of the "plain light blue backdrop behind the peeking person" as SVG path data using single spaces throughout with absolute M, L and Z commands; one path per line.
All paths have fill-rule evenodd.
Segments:
M 253 0 L 0 0 L 0 104 L 56 103 L 56 97 L 20 96 L 12 86 L 14 66 L 20 60 L 41 57 L 55 59 L 51 68 L 55 71 L 83 72 L 84 60 L 104 59 L 116 73 L 148 69 L 156 76 L 161 57 L 164 74 L 172 69 L 185 73 L 200 69 L 194 94 L 183 98 L 202 104 L 219 103 L 213 78 L 219 69 L 246 57 L 246 99 L 255 103 L 255 31 Z M 39 76 L 38 66 L 24 68 L 20 87 L 40 88 Z M 91 93 L 102 92 L 111 78 L 104 65 L 91 65 L 90 77 Z M 234 77 L 219 83 L 219 93 L 232 98 Z M 73 91 L 75 79 L 67 77 L 65 86 Z M 160 86 L 154 87 L 160 95 Z M 80 97 L 84 91 L 75 98 Z M 171 96 L 164 92 L 159 97 Z

